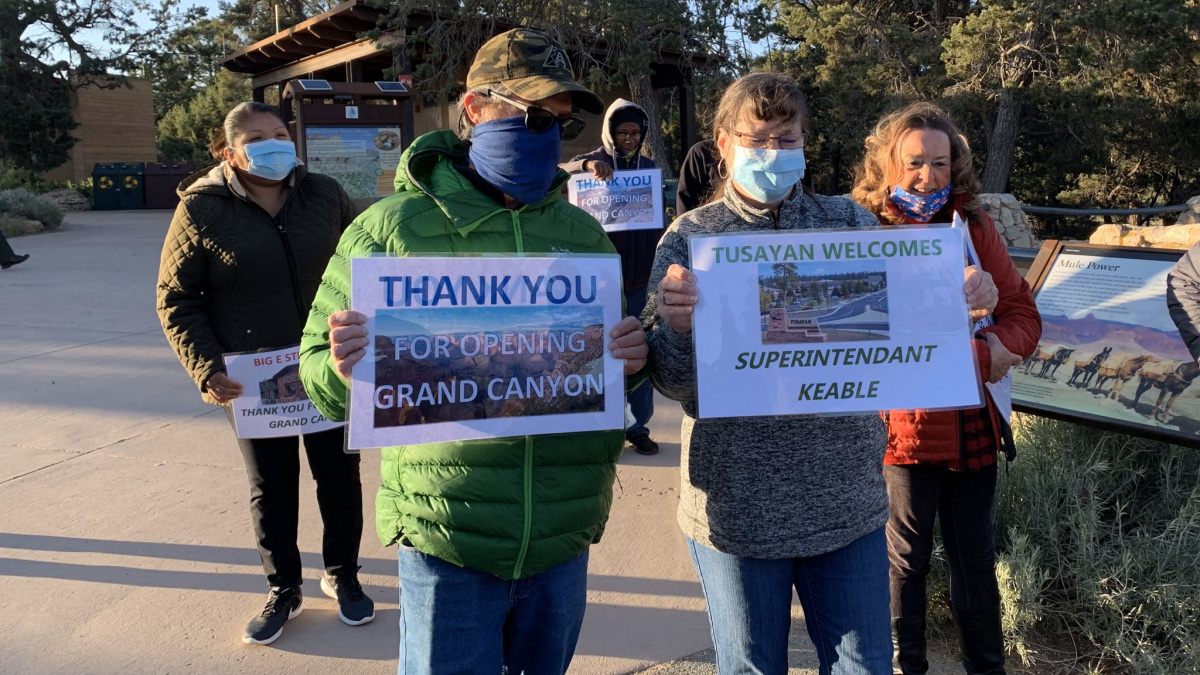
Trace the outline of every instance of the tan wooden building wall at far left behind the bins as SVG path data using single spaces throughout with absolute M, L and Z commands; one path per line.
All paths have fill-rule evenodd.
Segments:
M 71 133 L 79 141 L 71 160 L 47 172 L 47 178 L 80 181 L 97 163 L 156 161 L 154 90 L 150 80 L 131 77 L 128 82 L 132 89 L 78 90 L 74 120 L 79 126 Z

